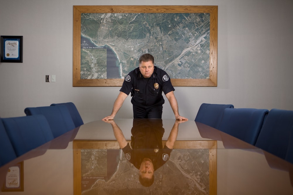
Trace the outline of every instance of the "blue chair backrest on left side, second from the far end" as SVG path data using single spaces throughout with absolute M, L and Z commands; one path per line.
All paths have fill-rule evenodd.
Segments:
M 24 110 L 27 116 L 42 114 L 46 117 L 54 137 L 58 137 L 75 128 L 66 106 L 30 107 Z

